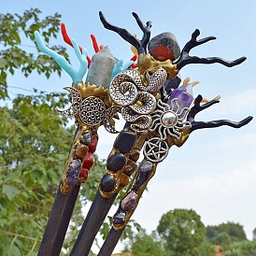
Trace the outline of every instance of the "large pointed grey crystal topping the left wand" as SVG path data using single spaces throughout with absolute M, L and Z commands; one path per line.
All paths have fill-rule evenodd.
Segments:
M 115 58 L 107 46 L 98 51 L 92 56 L 86 82 L 108 89 L 115 63 Z

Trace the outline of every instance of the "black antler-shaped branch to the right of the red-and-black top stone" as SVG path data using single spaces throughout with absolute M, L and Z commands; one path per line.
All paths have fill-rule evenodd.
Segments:
M 200 31 L 196 29 L 192 33 L 192 39 L 185 45 L 183 50 L 181 51 L 180 57 L 178 58 L 178 61 L 176 61 L 174 64 L 177 64 L 178 70 L 180 70 L 183 66 L 187 64 L 223 64 L 227 67 L 232 67 L 236 64 L 243 63 L 247 58 L 241 57 L 233 62 L 226 61 L 219 57 L 209 57 L 209 58 L 200 58 L 197 56 L 189 56 L 190 50 L 192 48 L 197 47 L 199 45 L 205 44 L 206 42 L 210 40 L 215 40 L 215 36 L 208 36 L 206 38 L 203 38 L 201 40 L 196 40 L 197 36 L 200 35 Z

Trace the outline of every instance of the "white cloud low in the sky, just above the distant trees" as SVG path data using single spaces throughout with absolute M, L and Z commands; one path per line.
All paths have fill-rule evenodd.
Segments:
M 134 218 L 151 231 L 168 210 L 192 208 L 206 225 L 239 222 L 250 239 L 256 227 L 255 166 L 253 160 L 229 173 L 201 174 L 181 181 L 151 180 Z

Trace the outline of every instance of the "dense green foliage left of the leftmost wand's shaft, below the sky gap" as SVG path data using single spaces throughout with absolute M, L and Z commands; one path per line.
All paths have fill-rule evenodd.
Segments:
M 0 108 L 0 255 L 33 255 L 42 238 L 74 134 L 53 110 L 68 99 L 54 96 L 19 95 Z

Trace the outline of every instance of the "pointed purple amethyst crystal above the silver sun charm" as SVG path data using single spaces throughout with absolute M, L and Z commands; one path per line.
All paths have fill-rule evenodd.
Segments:
M 167 104 L 170 105 L 173 99 L 177 98 L 178 100 L 178 107 L 180 109 L 184 107 L 190 107 L 192 104 L 192 84 L 188 83 L 179 87 L 178 89 L 174 90 L 170 95 Z

